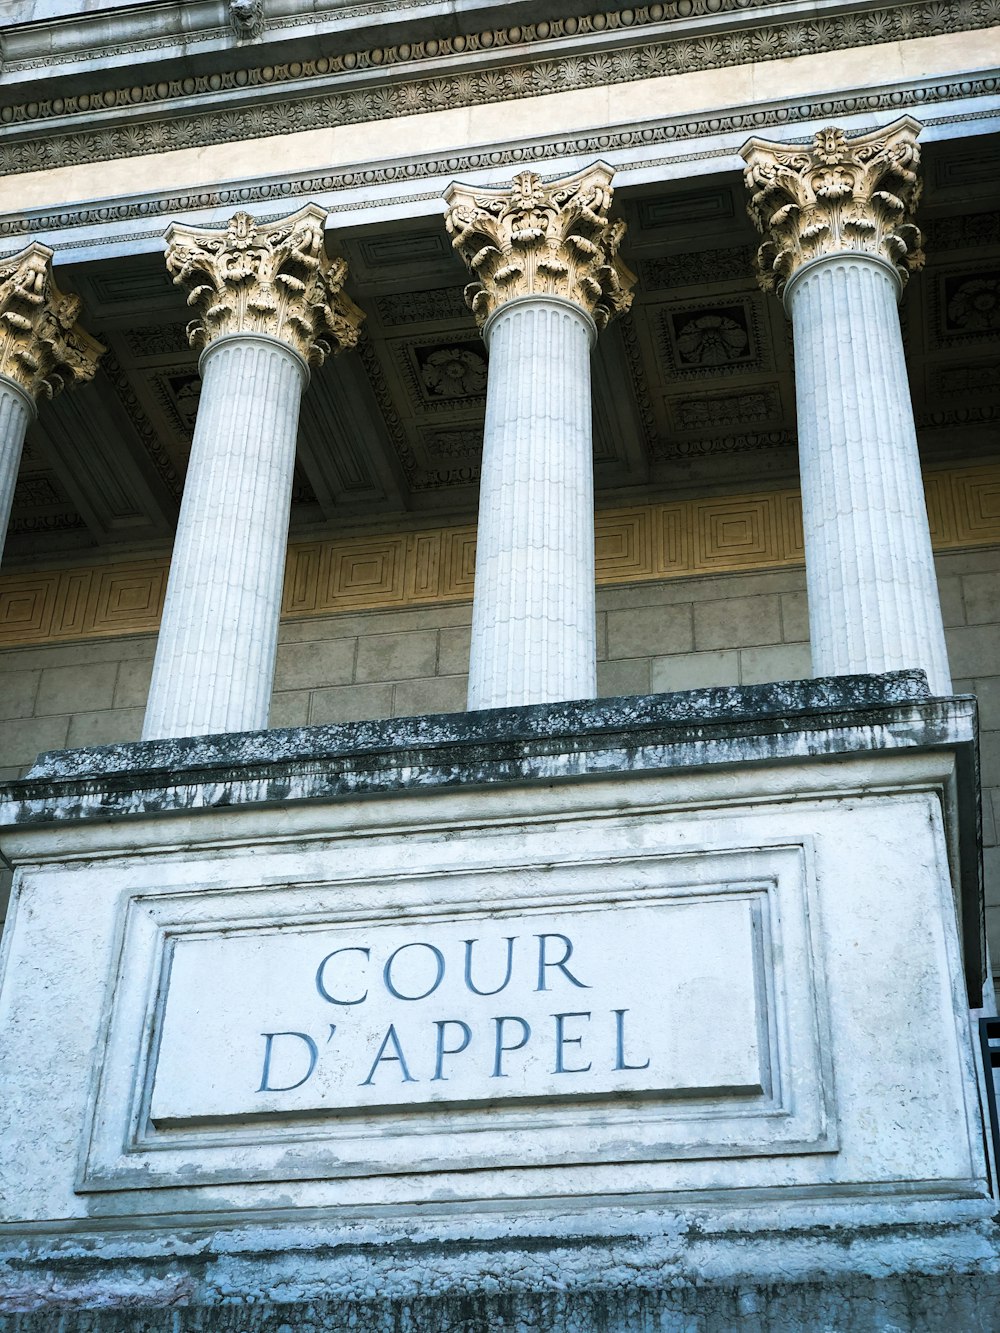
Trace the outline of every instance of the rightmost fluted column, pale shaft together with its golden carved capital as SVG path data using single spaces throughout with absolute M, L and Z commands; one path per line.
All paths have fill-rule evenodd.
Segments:
M 816 674 L 920 666 L 951 693 L 897 303 L 923 265 L 920 127 L 751 140 L 759 275 L 792 319 Z

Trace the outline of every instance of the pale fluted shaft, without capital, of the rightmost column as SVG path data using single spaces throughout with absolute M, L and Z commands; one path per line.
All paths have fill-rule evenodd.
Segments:
M 785 295 L 812 668 L 921 666 L 949 694 L 897 295 L 888 264 L 857 253 L 803 268 Z

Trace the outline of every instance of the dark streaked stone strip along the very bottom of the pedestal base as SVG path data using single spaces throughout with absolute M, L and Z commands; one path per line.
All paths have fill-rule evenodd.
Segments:
M 848 1237 L 844 1237 L 848 1241 Z M 403 1256 L 400 1256 L 403 1258 Z M 603 1256 L 601 1256 L 603 1258 Z M 424 1256 L 420 1256 L 424 1260 Z M 600 1260 L 599 1260 L 600 1262 Z M 464 1289 L 433 1296 L 0 1314 L 0 1333 L 993 1333 L 996 1272 L 845 1276 L 560 1290 Z

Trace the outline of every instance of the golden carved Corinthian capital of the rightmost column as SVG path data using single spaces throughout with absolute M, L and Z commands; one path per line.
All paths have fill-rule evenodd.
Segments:
M 821 129 L 811 144 L 751 139 L 743 148 L 747 211 L 764 236 L 757 276 L 780 296 L 811 259 L 876 255 L 905 283 L 923 267 L 913 211 L 920 199 L 920 125 L 904 116 L 885 129 L 848 139 Z

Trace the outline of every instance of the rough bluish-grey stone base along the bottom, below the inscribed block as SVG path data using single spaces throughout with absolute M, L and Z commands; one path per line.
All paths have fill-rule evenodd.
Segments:
M 892 1214 L 795 1230 L 748 1214 L 723 1234 L 697 1209 L 596 1210 L 561 1234 L 439 1220 L 379 1241 L 365 1224 L 19 1246 L 0 1333 L 995 1333 L 997 1226 Z

